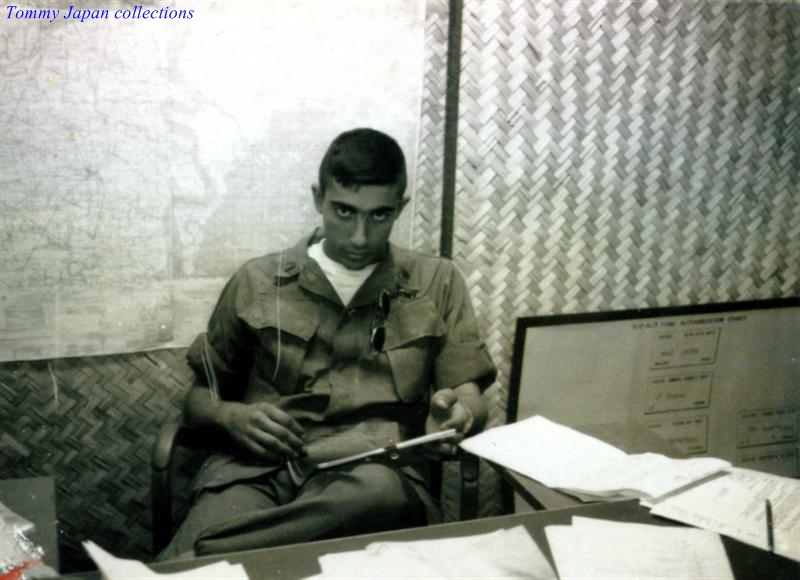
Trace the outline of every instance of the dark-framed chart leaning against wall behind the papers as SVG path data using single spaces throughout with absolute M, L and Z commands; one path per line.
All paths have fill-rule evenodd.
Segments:
M 689 456 L 800 475 L 800 299 L 517 320 L 509 422 L 637 422 Z

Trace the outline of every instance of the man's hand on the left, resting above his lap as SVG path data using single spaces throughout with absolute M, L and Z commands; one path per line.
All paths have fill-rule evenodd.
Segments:
M 223 403 L 219 423 L 245 449 L 268 459 L 303 454 L 303 428 L 270 403 Z

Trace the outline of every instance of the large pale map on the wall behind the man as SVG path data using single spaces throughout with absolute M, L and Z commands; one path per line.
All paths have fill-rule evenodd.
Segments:
M 341 131 L 413 173 L 421 1 L 35 4 L 0 22 L 0 360 L 188 344 L 243 261 L 316 225 Z

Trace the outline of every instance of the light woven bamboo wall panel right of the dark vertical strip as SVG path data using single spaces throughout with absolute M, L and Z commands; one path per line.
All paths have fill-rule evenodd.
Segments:
M 798 4 L 466 0 L 454 259 L 503 388 L 518 316 L 800 293 L 799 116 Z

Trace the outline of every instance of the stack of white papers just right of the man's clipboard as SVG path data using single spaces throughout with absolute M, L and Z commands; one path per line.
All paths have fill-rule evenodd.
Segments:
M 490 429 L 465 439 L 461 447 L 587 501 L 655 499 L 730 467 L 710 457 L 628 455 L 541 416 Z

